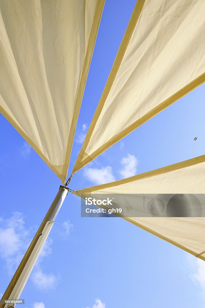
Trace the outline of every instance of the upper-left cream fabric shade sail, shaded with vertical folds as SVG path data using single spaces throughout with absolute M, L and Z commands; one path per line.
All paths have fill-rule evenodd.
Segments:
M 104 2 L 0 2 L 0 111 L 63 183 Z

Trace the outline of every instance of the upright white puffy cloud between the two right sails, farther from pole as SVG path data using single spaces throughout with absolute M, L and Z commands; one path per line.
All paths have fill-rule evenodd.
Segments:
M 119 171 L 123 178 L 133 176 L 137 172 L 137 158 L 134 155 L 128 154 L 127 157 L 123 157 L 121 165 L 123 168 Z

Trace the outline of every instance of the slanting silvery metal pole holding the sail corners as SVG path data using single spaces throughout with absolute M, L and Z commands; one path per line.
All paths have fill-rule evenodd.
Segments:
M 59 191 L 51 204 L 46 216 L 44 217 L 38 231 L 35 234 L 27 252 L 25 253 L 21 263 L 18 266 L 13 278 L 10 281 L 5 293 L 2 296 L 3 300 L 19 299 L 21 293 L 26 285 L 26 282 L 31 274 L 31 271 L 35 265 L 35 262 L 43 248 L 43 245 L 51 231 L 59 209 L 63 204 L 65 197 L 68 195 L 69 188 L 60 186 Z M 0 304 L 0 308 L 15 307 L 10 304 Z

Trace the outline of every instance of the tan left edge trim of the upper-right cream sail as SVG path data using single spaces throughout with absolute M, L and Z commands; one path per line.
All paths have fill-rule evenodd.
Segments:
M 81 160 L 84 157 L 84 153 L 85 153 L 87 145 L 88 145 L 88 143 L 90 141 L 90 138 L 92 136 L 92 132 L 93 132 L 93 130 L 95 128 L 95 125 L 97 123 L 99 115 L 100 115 L 100 113 L 102 111 L 102 108 L 103 108 L 103 106 L 105 104 L 105 100 L 106 100 L 106 98 L 107 98 L 107 96 L 108 96 L 108 94 L 110 92 L 110 89 L 111 89 L 111 87 L 113 85 L 113 82 L 115 80 L 117 72 L 118 72 L 118 70 L 120 68 L 122 59 L 123 59 L 123 57 L 125 55 L 125 51 L 127 50 L 129 41 L 131 39 L 131 36 L 133 34 L 133 31 L 135 29 L 137 21 L 138 21 L 140 15 L 141 15 L 141 11 L 143 9 L 145 1 L 146 0 L 137 0 L 137 2 L 135 4 L 132 16 L 131 16 L 131 18 L 129 20 L 129 24 L 127 26 L 127 29 L 126 29 L 125 34 L 123 36 L 123 39 L 121 41 L 120 47 L 119 47 L 119 49 L 117 51 L 117 55 L 116 55 L 116 58 L 114 60 L 113 67 L 112 67 L 112 69 L 110 71 L 109 77 L 107 79 L 107 82 L 105 84 L 105 88 L 104 88 L 103 93 L 102 93 L 102 96 L 101 96 L 100 101 L 99 101 L 99 103 L 97 105 L 96 111 L 95 111 L 94 116 L 93 116 L 92 121 L 91 121 L 91 124 L 90 124 L 90 126 L 88 128 L 88 132 L 87 132 L 87 135 L 85 137 L 84 143 L 82 145 L 82 148 L 80 150 L 80 153 L 79 153 L 79 155 L 77 157 L 77 160 L 76 160 L 76 163 L 74 165 L 74 168 L 73 168 L 73 171 L 72 171 L 73 173 L 75 173 L 76 171 L 80 170 L 85 165 L 85 164 L 83 164 L 82 167 L 78 168 L 79 166 L 82 165 L 81 164 Z M 91 160 L 89 160 L 89 161 L 91 161 Z M 88 163 L 86 163 L 86 164 L 88 164 Z M 76 166 L 78 166 L 78 167 L 76 167 Z

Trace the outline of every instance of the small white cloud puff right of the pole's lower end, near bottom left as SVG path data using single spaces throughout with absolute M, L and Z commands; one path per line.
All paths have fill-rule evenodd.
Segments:
M 59 282 L 59 278 L 54 274 L 43 273 L 41 268 L 35 270 L 31 275 L 31 280 L 39 290 L 55 289 Z

